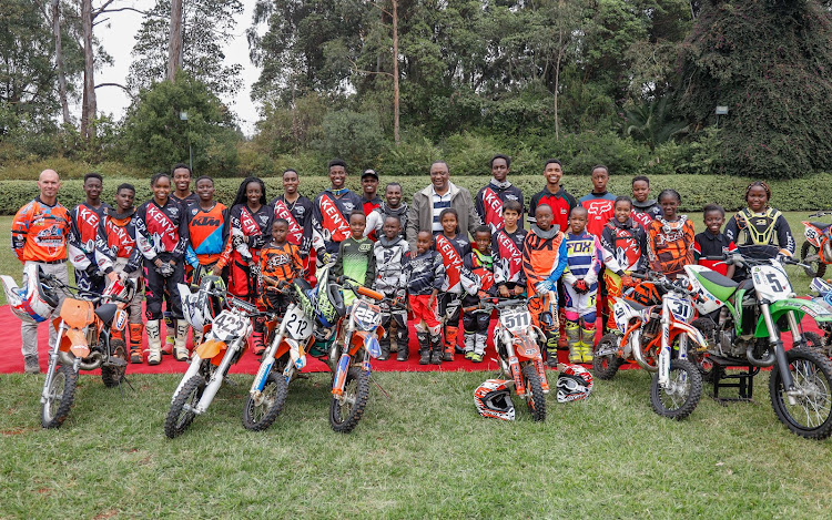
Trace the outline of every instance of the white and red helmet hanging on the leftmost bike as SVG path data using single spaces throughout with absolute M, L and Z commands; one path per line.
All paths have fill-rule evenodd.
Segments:
M 45 322 L 58 307 L 57 289 L 43 276 L 43 271 L 34 263 L 23 268 L 22 287 L 18 287 L 11 276 L 0 276 L 11 312 L 23 322 Z

